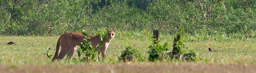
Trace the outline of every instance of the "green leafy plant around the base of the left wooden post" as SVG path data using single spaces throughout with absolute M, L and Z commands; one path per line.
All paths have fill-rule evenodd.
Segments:
M 154 41 L 155 39 L 153 39 Z M 159 40 L 156 43 L 149 46 L 149 61 L 163 60 L 166 58 L 166 52 L 168 51 L 168 43 L 164 43 L 162 46 L 159 44 Z

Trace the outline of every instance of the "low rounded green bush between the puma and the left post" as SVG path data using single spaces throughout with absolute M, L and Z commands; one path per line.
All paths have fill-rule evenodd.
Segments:
M 137 49 L 132 49 L 131 46 L 127 46 L 118 59 L 123 60 L 124 62 L 134 60 L 144 61 L 145 57 Z

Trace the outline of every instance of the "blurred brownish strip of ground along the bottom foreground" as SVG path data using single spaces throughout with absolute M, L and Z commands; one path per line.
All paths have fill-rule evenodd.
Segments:
M 256 65 L 120 63 L 0 66 L 0 73 L 256 73 Z

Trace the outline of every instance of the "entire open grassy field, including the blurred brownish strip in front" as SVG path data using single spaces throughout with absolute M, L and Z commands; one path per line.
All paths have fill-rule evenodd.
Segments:
M 135 36 L 136 35 L 136 36 Z M 181 72 L 181 73 L 253 73 L 256 72 L 256 41 L 250 40 L 196 40 L 184 41 L 184 45 L 194 50 L 199 61 L 194 62 L 126 62 L 119 63 L 118 57 L 126 46 L 136 48 L 148 57 L 149 36 L 135 34 L 131 37 L 117 35 L 107 50 L 104 62 L 73 63 L 68 61 L 51 62 L 44 54 L 48 48 L 54 54 L 59 36 L 1 36 L 0 38 L 0 70 L 3 73 L 53 73 L 53 72 L 92 72 L 92 73 L 123 73 L 123 72 Z M 142 36 L 142 37 L 141 37 Z M 172 50 L 173 37 L 160 36 L 162 42 L 168 42 Z M 167 39 L 163 39 L 167 38 Z M 185 37 L 186 39 L 186 37 Z M 13 41 L 15 45 L 6 45 Z M 212 48 L 215 52 L 209 52 Z M 77 58 L 77 54 L 75 54 Z M 66 69 L 68 68 L 68 69 Z M 100 69 L 97 69 L 100 68 Z M 56 70 L 55 70 L 56 69 Z

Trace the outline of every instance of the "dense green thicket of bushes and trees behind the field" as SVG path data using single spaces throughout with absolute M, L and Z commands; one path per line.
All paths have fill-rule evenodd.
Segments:
M 256 36 L 255 0 L 1 0 L 0 35 L 48 35 L 112 27 Z

